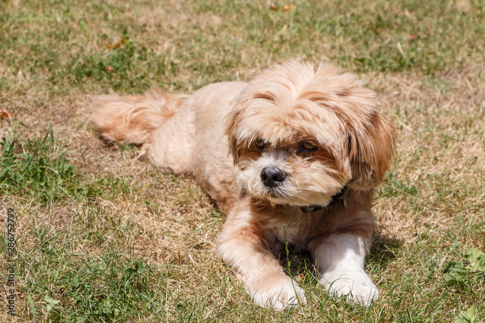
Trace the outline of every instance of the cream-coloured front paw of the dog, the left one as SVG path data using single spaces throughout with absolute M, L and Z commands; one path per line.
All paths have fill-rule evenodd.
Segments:
M 286 307 L 299 307 L 307 303 L 305 291 L 285 274 L 253 277 L 245 283 L 246 292 L 254 304 L 282 311 Z

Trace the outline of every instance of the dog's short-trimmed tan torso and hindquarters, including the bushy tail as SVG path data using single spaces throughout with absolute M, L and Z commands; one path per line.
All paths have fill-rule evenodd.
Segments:
M 229 211 L 240 193 L 236 167 L 224 135 L 230 102 L 242 82 L 207 85 L 192 95 L 149 90 L 140 96 L 107 94 L 93 102 L 92 120 L 109 141 L 142 146 L 157 168 L 193 175 Z

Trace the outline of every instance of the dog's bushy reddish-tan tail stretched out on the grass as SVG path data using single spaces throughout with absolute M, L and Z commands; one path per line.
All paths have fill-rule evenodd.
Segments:
M 141 145 L 189 97 L 151 89 L 143 95 L 98 96 L 92 104 L 91 119 L 106 140 Z

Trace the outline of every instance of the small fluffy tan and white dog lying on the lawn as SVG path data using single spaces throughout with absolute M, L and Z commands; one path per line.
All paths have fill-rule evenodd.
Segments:
M 325 290 L 369 306 L 379 296 L 364 271 L 372 195 L 396 142 L 374 99 L 353 74 L 290 61 L 192 95 L 102 95 L 92 120 L 106 140 L 142 145 L 155 167 L 195 177 L 227 215 L 217 254 L 255 304 L 306 304 L 275 258 L 288 244 L 311 253 Z

